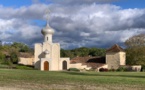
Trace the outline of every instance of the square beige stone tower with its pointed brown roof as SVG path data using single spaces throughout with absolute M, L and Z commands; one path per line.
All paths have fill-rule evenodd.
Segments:
M 108 69 L 118 69 L 126 65 L 126 52 L 117 44 L 106 51 L 106 64 Z

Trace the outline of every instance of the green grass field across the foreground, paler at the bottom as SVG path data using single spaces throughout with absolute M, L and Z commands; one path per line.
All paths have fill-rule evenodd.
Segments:
M 144 72 L 0 70 L 0 90 L 145 90 Z

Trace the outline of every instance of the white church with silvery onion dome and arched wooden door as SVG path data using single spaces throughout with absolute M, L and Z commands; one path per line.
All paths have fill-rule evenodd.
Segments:
M 69 68 L 70 59 L 60 58 L 60 44 L 52 42 L 54 30 L 47 24 L 42 29 L 44 42 L 35 44 L 34 67 L 39 70 L 59 71 Z

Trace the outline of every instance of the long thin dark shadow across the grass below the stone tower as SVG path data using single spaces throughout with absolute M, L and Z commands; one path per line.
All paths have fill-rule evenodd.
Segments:
M 69 71 L 64 71 L 62 73 L 69 74 L 69 75 L 82 75 L 82 76 L 107 76 L 107 77 L 145 78 L 145 73 L 144 73 L 144 76 L 134 75 L 134 74 L 132 74 L 132 75 L 126 75 L 126 74 L 123 75 L 124 72 L 120 72 L 121 74 L 115 74 L 115 73 L 118 73 L 118 72 L 112 72 L 112 73 L 109 72 L 111 74 L 108 74 L 106 72 L 87 73 L 87 72 L 69 72 Z

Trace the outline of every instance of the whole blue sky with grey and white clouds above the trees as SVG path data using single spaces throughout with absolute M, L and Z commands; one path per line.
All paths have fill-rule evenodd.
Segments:
M 126 39 L 145 33 L 145 0 L 0 0 L 0 40 L 42 43 L 41 29 L 55 29 L 61 48 L 124 46 Z

